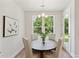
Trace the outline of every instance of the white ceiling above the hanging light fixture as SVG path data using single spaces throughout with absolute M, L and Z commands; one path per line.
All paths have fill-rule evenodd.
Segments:
M 63 10 L 70 0 L 44 0 L 44 9 L 40 7 L 43 0 L 15 0 L 25 11 L 60 11 Z

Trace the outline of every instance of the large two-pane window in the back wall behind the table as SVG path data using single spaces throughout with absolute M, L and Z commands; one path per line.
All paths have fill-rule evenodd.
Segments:
M 44 28 L 42 28 L 42 26 Z M 45 34 L 48 35 L 50 32 L 53 33 L 53 16 L 47 17 L 33 17 L 33 32 L 41 35 L 42 30 L 45 30 Z

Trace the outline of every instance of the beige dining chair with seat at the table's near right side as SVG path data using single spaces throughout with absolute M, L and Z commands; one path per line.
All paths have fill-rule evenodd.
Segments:
M 45 52 L 44 57 L 45 58 L 58 58 L 61 55 L 62 51 L 62 40 L 59 39 L 56 47 L 56 51 L 53 52 Z

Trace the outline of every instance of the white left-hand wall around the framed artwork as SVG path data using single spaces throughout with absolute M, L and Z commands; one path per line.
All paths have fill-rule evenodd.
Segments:
M 3 15 L 17 19 L 19 33 L 3 38 Z M 0 57 L 14 57 L 22 48 L 24 36 L 24 12 L 13 0 L 0 0 Z

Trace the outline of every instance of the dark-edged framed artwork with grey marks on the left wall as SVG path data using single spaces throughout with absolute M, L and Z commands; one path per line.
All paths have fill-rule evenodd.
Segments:
M 18 34 L 18 22 L 16 19 L 3 16 L 3 37 Z

